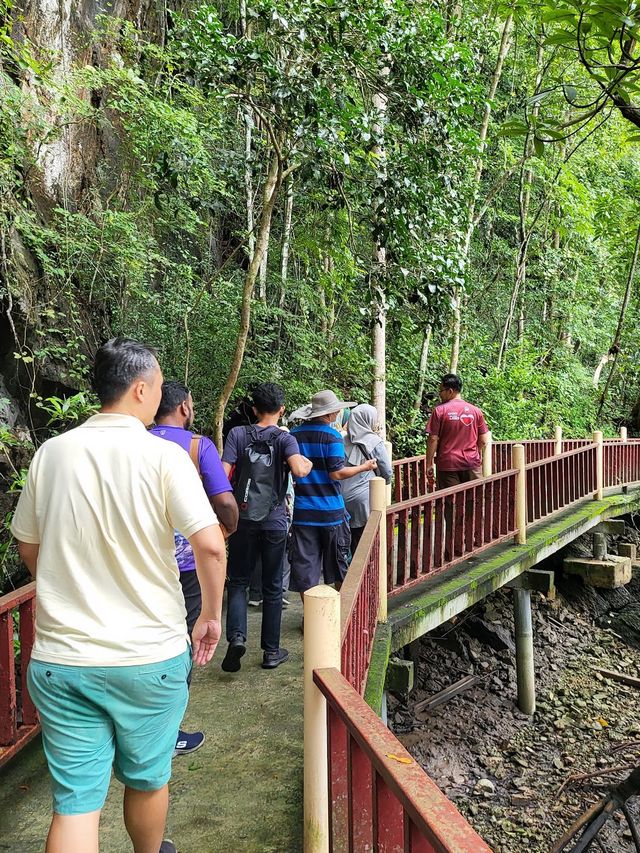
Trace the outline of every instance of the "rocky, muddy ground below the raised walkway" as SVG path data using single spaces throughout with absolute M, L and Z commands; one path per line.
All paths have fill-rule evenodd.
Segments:
M 579 542 L 576 550 L 584 547 Z M 508 590 L 423 638 L 417 686 L 408 700 L 389 702 L 395 733 L 496 853 L 548 853 L 611 784 L 640 766 L 640 690 L 597 672 L 640 677 L 640 578 L 610 593 L 558 581 L 555 601 L 532 594 L 538 697 L 532 718 L 515 705 Z M 630 629 L 623 639 L 618 630 L 625 620 Z M 434 710 L 415 711 L 467 675 L 482 681 Z M 577 774 L 589 778 L 573 780 Z M 629 805 L 640 822 L 640 797 Z M 622 815 L 590 849 L 635 851 Z

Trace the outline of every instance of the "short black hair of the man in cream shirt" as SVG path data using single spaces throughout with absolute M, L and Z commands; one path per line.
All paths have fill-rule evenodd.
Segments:
M 148 377 L 157 365 L 153 347 L 131 338 L 111 338 L 96 353 L 93 390 L 103 406 L 119 400 L 137 380 Z

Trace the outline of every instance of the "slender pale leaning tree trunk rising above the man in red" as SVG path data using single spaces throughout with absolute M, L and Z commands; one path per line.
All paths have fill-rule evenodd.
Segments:
M 469 202 L 469 209 L 467 211 L 467 230 L 465 233 L 464 244 L 462 246 L 462 264 L 464 271 L 466 271 L 467 268 L 467 263 L 469 260 L 469 249 L 471 247 L 471 240 L 473 238 L 473 232 L 475 230 L 475 208 L 478 201 L 478 192 L 480 190 L 482 172 L 484 171 L 484 152 L 485 148 L 487 147 L 487 134 L 489 131 L 489 120 L 491 118 L 491 101 L 494 99 L 496 91 L 498 89 L 498 84 L 500 83 L 500 78 L 502 77 L 504 61 L 507 58 L 507 54 L 509 53 L 509 49 L 511 47 L 512 27 L 513 15 L 509 15 L 502 26 L 502 35 L 500 37 L 500 48 L 498 50 L 498 58 L 496 59 L 496 64 L 493 69 L 493 76 L 491 77 L 491 83 L 489 84 L 487 99 L 484 105 L 484 113 L 482 116 L 482 123 L 480 124 L 480 132 L 478 134 L 478 157 L 476 159 L 475 173 L 471 186 L 471 201 Z M 461 302 L 462 292 L 461 289 L 458 287 L 456 288 L 453 295 L 453 340 L 451 343 L 451 359 L 449 361 L 450 373 L 456 373 L 456 371 L 458 370 L 458 361 L 460 360 L 460 331 L 462 328 Z

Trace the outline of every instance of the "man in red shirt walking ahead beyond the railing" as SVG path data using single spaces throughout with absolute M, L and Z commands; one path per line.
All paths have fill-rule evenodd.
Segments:
M 489 429 L 480 409 L 463 400 L 461 391 L 460 377 L 445 374 L 440 381 L 442 402 L 427 424 L 427 473 L 433 476 L 435 457 L 439 489 L 482 477 L 482 448 L 488 442 Z

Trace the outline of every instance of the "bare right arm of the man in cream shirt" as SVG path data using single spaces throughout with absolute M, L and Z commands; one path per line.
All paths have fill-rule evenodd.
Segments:
M 222 633 L 222 594 L 227 575 L 227 556 L 219 524 L 204 527 L 189 537 L 196 558 L 196 572 L 202 590 L 202 610 L 193 626 L 193 662 L 209 663 Z

